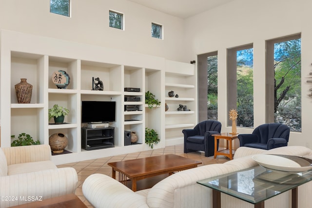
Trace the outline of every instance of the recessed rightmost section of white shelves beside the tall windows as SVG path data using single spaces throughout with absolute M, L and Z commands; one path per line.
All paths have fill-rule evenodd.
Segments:
M 193 128 L 197 123 L 196 82 L 195 65 L 166 61 L 165 102 L 169 106 L 165 112 L 166 146 L 183 144 L 182 130 Z M 178 97 L 169 97 L 170 91 Z M 179 104 L 189 110 L 177 111 Z

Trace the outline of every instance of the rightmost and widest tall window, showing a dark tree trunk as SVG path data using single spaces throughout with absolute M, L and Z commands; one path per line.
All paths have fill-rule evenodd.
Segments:
M 266 122 L 301 131 L 301 35 L 266 42 Z

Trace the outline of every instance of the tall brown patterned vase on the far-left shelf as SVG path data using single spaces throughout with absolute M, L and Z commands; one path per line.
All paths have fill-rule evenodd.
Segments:
M 29 104 L 33 85 L 26 82 L 27 79 L 20 79 L 20 83 L 15 84 L 16 98 L 19 104 Z

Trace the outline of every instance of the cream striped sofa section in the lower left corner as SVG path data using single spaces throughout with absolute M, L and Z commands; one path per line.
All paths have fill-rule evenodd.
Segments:
M 0 208 L 75 193 L 74 168 L 57 168 L 49 145 L 0 148 Z

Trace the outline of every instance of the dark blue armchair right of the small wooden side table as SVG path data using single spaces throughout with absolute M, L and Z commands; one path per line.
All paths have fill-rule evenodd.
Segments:
M 273 149 L 287 146 L 290 128 L 283 124 L 263 124 L 256 127 L 252 134 L 239 134 L 240 146 L 259 149 Z

